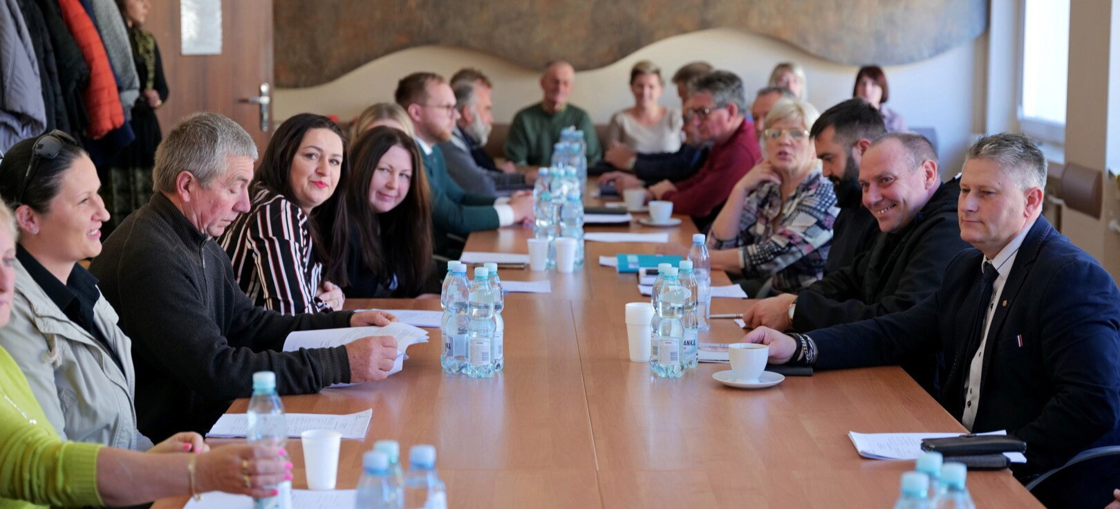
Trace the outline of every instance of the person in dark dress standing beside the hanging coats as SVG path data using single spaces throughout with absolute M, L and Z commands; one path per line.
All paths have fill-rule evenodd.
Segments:
M 124 104 L 132 108 L 129 124 L 137 138 L 112 161 L 102 183 L 101 196 L 110 213 L 110 220 L 102 225 L 102 235 L 109 235 L 132 211 L 151 200 L 151 168 L 156 165 L 156 147 L 162 140 L 156 110 L 164 105 L 168 94 L 159 46 L 151 33 L 142 28 L 149 0 L 116 0 L 116 7 L 129 27 L 141 92 L 134 104 Z

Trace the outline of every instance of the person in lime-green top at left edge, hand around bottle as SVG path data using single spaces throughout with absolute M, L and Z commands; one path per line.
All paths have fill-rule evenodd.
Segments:
M 28 142 L 22 144 L 24 150 L 19 144 L 12 148 L 17 157 L 26 151 Z M 55 145 L 48 144 L 45 156 L 54 151 Z M 11 152 L 4 161 L 9 157 Z M 20 177 L 25 169 L 0 165 L 2 174 Z M 28 279 L 18 259 L 17 237 L 12 213 L 0 202 L 0 337 L 17 325 L 9 318 L 21 313 L 20 288 L 26 289 Z M 66 442 L 21 369 L 0 348 L 0 509 L 131 506 L 215 490 L 269 497 L 274 490 L 264 487 L 291 479 L 291 464 L 278 447 L 236 444 L 211 451 L 197 433 L 177 434 L 148 453 Z

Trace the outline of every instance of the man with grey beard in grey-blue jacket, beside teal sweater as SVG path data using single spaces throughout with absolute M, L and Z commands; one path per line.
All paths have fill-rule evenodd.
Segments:
M 491 89 L 478 80 L 470 80 L 456 82 L 452 90 L 459 119 L 451 138 L 438 144 L 448 175 L 463 191 L 483 196 L 508 196 L 514 191 L 530 188 L 525 175 L 516 173 L 513 165 L 507 168 L 510 172 L 487 170 L 478 165 L 473 154 L 473 147 L 486 144 L 494 124 Z

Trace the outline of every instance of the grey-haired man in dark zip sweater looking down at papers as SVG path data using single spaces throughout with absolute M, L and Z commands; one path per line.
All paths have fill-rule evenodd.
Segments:
M 383 380 L 396 341 L 370 336 L 345 346 L 283 352 L 288 333 L 388 325 L 380 312 L 283 316 L 254 307 L 214 241 L 249 210 L 256 146 L 236 122 L 195 113 L 156 150 L 156 194 L 105 240 L 90 271 L 132 340 L 137 424 L 159 442 L 206 433 L 254 371 L 273 371 L 280 394 Z

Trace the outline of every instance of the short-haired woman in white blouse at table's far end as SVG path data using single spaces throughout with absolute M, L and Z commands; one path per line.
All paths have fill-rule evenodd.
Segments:
M 642 61 L 631 70 L 634 107 L 610 118 L 607 139 L 640 154 L 675 152 L 681 148 L 681 110 L 657 103 L 665 90 L 661 68 Z

